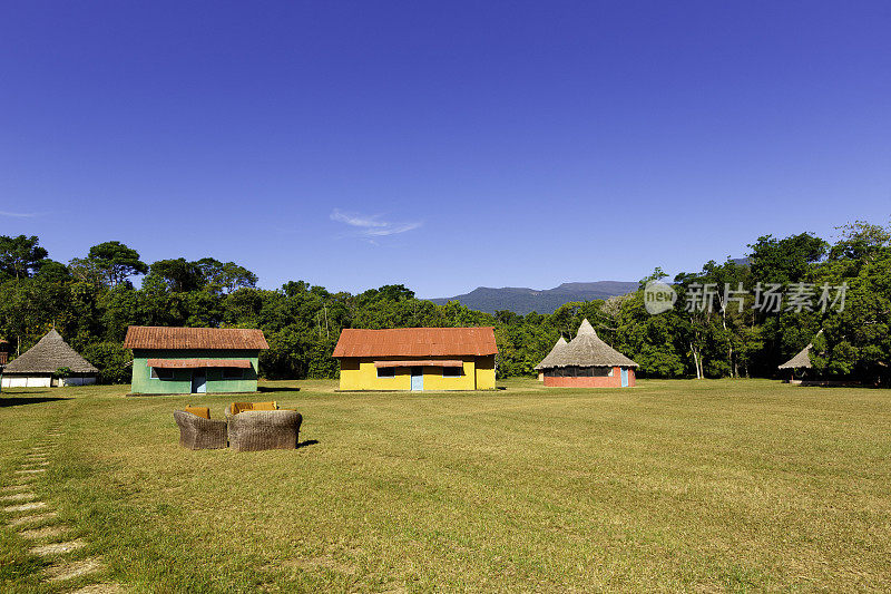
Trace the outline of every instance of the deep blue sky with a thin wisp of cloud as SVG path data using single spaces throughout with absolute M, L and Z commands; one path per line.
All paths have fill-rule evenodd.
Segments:
M 420 296 L 891 216 L 891 3 L 4 2 L 0 234 Z

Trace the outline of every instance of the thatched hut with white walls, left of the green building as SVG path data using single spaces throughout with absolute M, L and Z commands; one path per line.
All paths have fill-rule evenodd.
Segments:
M 50 330 L 3 368 L 3 388 L 49 388 L 96 383 L 99 370 Z

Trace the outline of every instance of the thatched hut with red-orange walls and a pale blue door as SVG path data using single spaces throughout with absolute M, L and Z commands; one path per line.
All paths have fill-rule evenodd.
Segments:
M 542 370 L 548 387 L 627 388 L 635 384 L 636 367 L 637 363 L 600 340 L 585 320 L 576 338 L 554 353 Z

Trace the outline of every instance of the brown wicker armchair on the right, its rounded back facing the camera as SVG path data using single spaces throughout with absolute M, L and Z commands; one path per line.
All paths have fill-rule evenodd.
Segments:
M 261 410 L 227 417 L 235 451 L 295 449 L 303 417 L 295 410 Z

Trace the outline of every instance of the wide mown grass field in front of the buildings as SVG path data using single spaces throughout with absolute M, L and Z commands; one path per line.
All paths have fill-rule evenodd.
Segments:
M 271 382 L 257 400 L 297 408 L 304 445 L 242 454 L 179 447 L 172 412 L 198 397 L 8 390 L 0 485 L 63 428 L 35 490 L 87 543 L 69 557 L 136 592 L 891 590 L 888 391 L 499 384 Z M 87 583 L 41 583 L 11 517 L 0 591 Z

